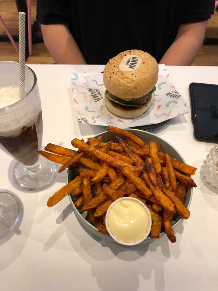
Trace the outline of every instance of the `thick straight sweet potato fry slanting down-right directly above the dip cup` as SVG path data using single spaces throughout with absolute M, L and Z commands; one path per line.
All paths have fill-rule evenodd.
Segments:
M 144 181 L 136 176 L 128 167 L 122 167 L 121 173 L 126 176 L 146 197 L 151 196 L 151 190 L 148 189 Z

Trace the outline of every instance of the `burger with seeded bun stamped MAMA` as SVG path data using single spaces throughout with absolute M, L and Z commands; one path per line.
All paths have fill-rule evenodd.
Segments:
M 107 109 L 122 118 L 137 118 L 151 105 L 158 64 L 147 52 L 132 49 L 110 59 L 104 69 Z

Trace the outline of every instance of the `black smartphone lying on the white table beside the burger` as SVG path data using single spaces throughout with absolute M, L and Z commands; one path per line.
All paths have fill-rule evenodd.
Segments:
M 218 85 L 189 85 L 194 137 L 198 141 L 218 143 Z

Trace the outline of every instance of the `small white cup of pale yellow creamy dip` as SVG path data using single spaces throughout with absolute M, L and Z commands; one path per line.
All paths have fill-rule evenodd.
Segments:
M 138 244 L 150 233 L 150 212 L 140 200 L 122 197 L 108 208 L 106 227 L 115 241 L 125 245 Z

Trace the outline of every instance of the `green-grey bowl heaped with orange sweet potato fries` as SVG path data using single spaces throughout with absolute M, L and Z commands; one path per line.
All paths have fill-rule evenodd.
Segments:
M 176 242 L 175 226 L 190 216 L 196 168 L 173 146 L 150 132 L 113 126 L 71 144 L 76 150 L 48 144 L 39 151 L 61 164 L 59 172 L 68 168 L 67 184 L 49 197 L 48 207 L 68 195 L 81 224 L 114 242 L 105 226 L 107 209 L 116 199 L 134 197 L 148 207 L 152 219 L 150 235 L 141 244 L 163 235 Z

